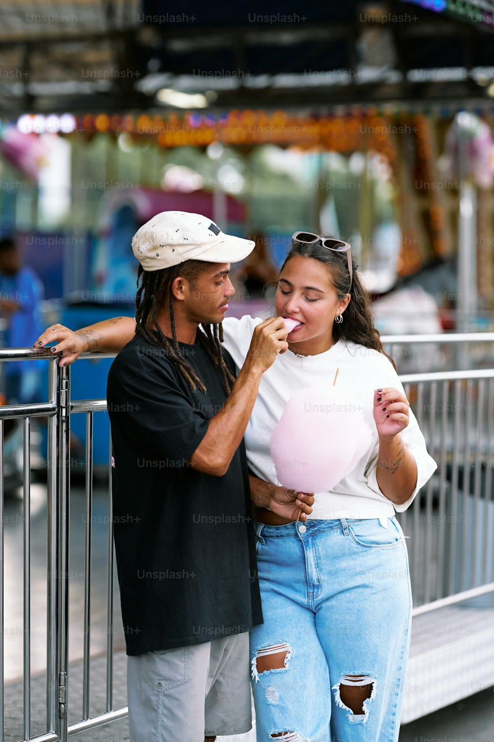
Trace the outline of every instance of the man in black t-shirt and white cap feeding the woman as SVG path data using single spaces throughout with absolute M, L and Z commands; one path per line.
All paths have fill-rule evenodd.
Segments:
M 136 335 L 107 385 L 133 742 L 251 728 L 247 632 L 262 616 L 242 439 L 261 375 L 287 349 L 283 319 L 263 322 L 235 379 L 221 347 L 230 264 L 252 249 L 176 211 L 133 238 Z M 47 329 L 38 344 L 64 330 Z M 85 334 L 94 347 L 99 338 Z M 278 499 L 264 505 L 289 517 L 300 508 L 303 519 L 312 511 L 309 497 Z

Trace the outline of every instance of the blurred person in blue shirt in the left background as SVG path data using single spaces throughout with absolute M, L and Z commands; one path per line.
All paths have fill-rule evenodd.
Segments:
M 32 347 L 33 338 L 44 327 L 39 302 L 44 287 L 36 273 L 22 266 L 13 237 L 0 240 L 0 315 L 7 326 L 3 347 Z M 4 394 L 9 404 L 36 401 L 43 361 L 4 361 L 0 364 Z

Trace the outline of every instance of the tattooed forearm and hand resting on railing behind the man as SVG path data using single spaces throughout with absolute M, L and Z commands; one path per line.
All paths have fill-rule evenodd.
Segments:
M 136 322 L 132 317 L 113 317 L 109 320 L 73 330 L 55 324 L 44 330 L 33 347 L 44 347 L 56 342 L 51 350 L 64 353 L 59 366 L 73 364 L 84 352 L 118 353 L 132 340 L 136 333 Z

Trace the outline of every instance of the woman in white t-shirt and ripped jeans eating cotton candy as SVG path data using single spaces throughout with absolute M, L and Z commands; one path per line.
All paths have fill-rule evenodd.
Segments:
M 350 246 L 294 234 L 275 306 L 277 316 L 298 325 L 288 335 L 289 352 L 264 373 L 245 433 L 253 490 L 278 484 L 269 441 L 291 393 L 332 383 L 337 368 L 352 390 L 342 401 L 350 413 L 352 404 L 364 410 L 373 441 L 333 491 L 316 493 L 304 523 L 255 508 L 264 614 L 250 633 L 258 740 L 395 742 L 412 598 L 394 513 L 408 508 L 436 464 L 384 354 Z M 261 321 L 223 322 L 224 345 L 238 368 Z M 130 323 L 99 323 L 77 338 L 57 329 L 62 342 L 55 350 L 70 363 L 95 344 L 118 349 L 133 335 Z

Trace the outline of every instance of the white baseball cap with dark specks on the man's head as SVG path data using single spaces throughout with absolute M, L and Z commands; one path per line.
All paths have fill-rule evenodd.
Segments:
M 207 217 L 188 211 L 161 211 L 132 238 L 133 253 L 145 271 L 170 268 L 184 260 L 237 263 L 255 246 L 252 240 L 224 234 Z

